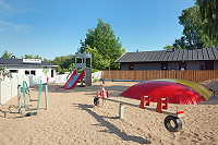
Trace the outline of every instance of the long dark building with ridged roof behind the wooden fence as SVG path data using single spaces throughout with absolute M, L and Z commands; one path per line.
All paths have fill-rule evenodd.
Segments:
M 218 70 L 218 48 L 126 52 L 121 70 Z

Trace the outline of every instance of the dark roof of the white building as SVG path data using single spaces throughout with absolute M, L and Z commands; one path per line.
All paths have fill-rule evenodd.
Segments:
M 45 61 L 41 61 L 41 63 L 27 63 L 23 62 L 23 59 L 5 59 L 5 58 L 0 58 L 0 67 L 17 67 L 17 65 L 33 65 L 33 67 L 58 67 L 52 63 L 48 63 Z

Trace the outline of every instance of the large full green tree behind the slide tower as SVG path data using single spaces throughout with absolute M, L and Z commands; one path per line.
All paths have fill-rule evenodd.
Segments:
M 125 49 L 122 49 L 120 38 L 116 37 L 114 31 L 109 23 L 98 19 L 96 28 L 88 29 L 84 41 L 81 40 L 78 52 L 92 52 L 93 68 L 99 70 L 119 69 L 114 61 L 121 57 Z

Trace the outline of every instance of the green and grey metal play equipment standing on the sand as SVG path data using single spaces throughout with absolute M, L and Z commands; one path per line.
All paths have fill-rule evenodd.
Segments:
M 19 112 L 21 113 L 21 89 L 23 89 L 23 98 L 24 98 L 24 106 L 25 106 L 25 111 L 29 111 L 29 110 L 38 110 L 39 109 L 39 102 L 40 102 L 40 97 L 41 97 L 41 90 L 43 87 L 45 87 L 45 97 L 46 97 L 46 110 L 48 110 L 48 86 L 47 84 L 39 84 L 39 92 L 38 92 L 38 99 L 32 99 L 31 97 L 31 93 L 28 89 L 28 85 L 25 81 L 23 81 L 23 87 L 21 87 L 21 85 L 19 85 L 17 89 L 19 89 Z M 26 95 L 29 98 L 29 101 L 37 101 L 37 107 L 36 108 L 28 108 L 27 104 L 26 104 Z

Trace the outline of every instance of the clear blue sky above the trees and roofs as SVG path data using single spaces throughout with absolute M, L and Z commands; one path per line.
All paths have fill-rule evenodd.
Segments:
M 0 56 L 74 55 L 98 19 L 128 52 L 162 50 L 180 38 L 178 16 L 194 0 L 0 0 Z

